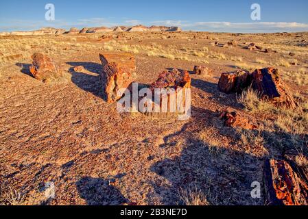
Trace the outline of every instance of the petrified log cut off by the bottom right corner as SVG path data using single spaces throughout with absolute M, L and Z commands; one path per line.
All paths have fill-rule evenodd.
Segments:
M 266 159 L 265 194 L 270 205 L 307 205 L 308 185 L 283 160 Z

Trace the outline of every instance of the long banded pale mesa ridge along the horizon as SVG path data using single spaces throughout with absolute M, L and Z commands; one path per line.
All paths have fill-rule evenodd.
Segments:
M 135 25 L 133 27 L 117 26 L 117 27 L 84 27 L 78 29 L 72 27 L 69 31 L 65 29 L 57 29 L 54 27 L 44 27 L 34 31 L 12 31 L 12 32 L 1 32 L 0 36 L 32 36 L 32 35 L 60 35 L 60 34 L 95 34 L 95 33 L 108 33 L 108 32 L 164 32 L 172 31 L 178 32 L 182 31 L 180 27 L 166 27 L 166 26 L 151 26 L 145 27 L 144 25 Z

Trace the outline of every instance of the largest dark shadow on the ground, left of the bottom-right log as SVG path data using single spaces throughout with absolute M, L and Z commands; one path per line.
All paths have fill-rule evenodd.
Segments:
M 263 205 L 262 197 L 255 199 L 250 194 L 252 182 L 262 184 L 260 159 L 206 142 L 187 145 L 180 156 L 150 168 L 171 184 L 161 179 L 152 182 L 163 204 L 185 205 L 183 194 L 200 192 L 210 205 Z

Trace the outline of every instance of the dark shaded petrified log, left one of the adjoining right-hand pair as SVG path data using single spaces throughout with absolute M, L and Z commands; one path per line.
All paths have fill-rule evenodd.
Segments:
M 250 73 L 247 70 L 237 70 L 230 73 L 222 73 L 218 82 L 218 89 L 225 93 L 242 92 L 250 86 Z

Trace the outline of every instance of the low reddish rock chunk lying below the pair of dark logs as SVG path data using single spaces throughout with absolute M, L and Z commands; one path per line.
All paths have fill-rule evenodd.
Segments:
M 241 127 L 250 130 L 257 129 L 257 122 L 253 116 L 230 107 L 220 110 L 219 118 L 224 120 L 224 125 L 228 127 Z

